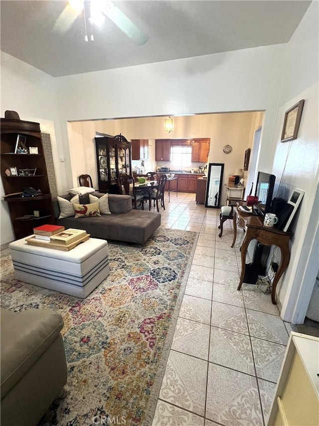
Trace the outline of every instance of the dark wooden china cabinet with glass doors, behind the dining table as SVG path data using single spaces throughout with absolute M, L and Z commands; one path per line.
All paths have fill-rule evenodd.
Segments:
M 100 192 L 118 194 L 118 177 L 132 174 L 131 142 L 123 135 L 96 137 L 97 172 Z

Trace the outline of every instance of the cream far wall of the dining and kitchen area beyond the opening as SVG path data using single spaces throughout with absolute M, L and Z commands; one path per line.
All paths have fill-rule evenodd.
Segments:
M 97 188 L 93 138 L 95 132 L 101 132 L 110 135 L 122 133 L 129 140 L 209 137 L 208 162 L 225 164 L 224 183 L 227 183 L 228 175 L 233 174 L 235 168 L 243 168 L 245 150 L 252 145 L 253 133 L 260 125 L 263 113 L 243 112 L 174 117 L 174 132 L 170 135 L 164 132 L 164 118 L 72 122 L 72 135 L 69 140 L 72 159 L 74 159 L 72 163 L 74 179 L 77 179 L 80 174 L 88 173 L 92 176 L 93 186 Z M 223 152 L 223 146 L 226 144 L 230 144 L 233 148 L 230 154 Z M 169 167 L 170 164 L 161 163 L 160 166 Z M 255 167 L 255 164 L 252 166 Z M 247 172 L 244 178 L 246 176 Z

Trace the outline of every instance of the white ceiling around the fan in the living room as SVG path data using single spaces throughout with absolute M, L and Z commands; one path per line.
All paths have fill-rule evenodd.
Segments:
M 108 18 L 94 29 L 94 42 L 84 40 L 83 15 L 68 30 L 55 30 L 67 1 L 1 0 L 1 50 L 61 76 L 286 43 L 311 1 L 114 3 L 148 34 L 146 44 L 135 44 Z

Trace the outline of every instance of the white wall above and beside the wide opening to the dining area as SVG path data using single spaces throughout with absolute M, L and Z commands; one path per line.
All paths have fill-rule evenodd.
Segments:
M 269 170 L 284 50 L 279 44 L 57 77 L 61 126 L 65 120 L 266 110 L 259 167 Z

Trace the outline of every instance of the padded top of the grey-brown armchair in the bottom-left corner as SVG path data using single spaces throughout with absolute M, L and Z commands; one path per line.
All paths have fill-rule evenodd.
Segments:
M 58 337 L 60 314 L 44 309 L 1 309 L 1 400 Z

